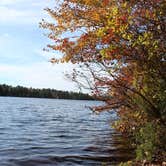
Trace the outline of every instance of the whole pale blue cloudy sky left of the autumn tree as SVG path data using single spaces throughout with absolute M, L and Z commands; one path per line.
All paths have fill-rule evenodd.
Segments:
M 0 84 L 77 91 L 64 73 L 71 64 L 49 63 L 55 53 L 43 51 L 50 41 L 39 28 L 43 9 L 54 0 L 0 0 Z

